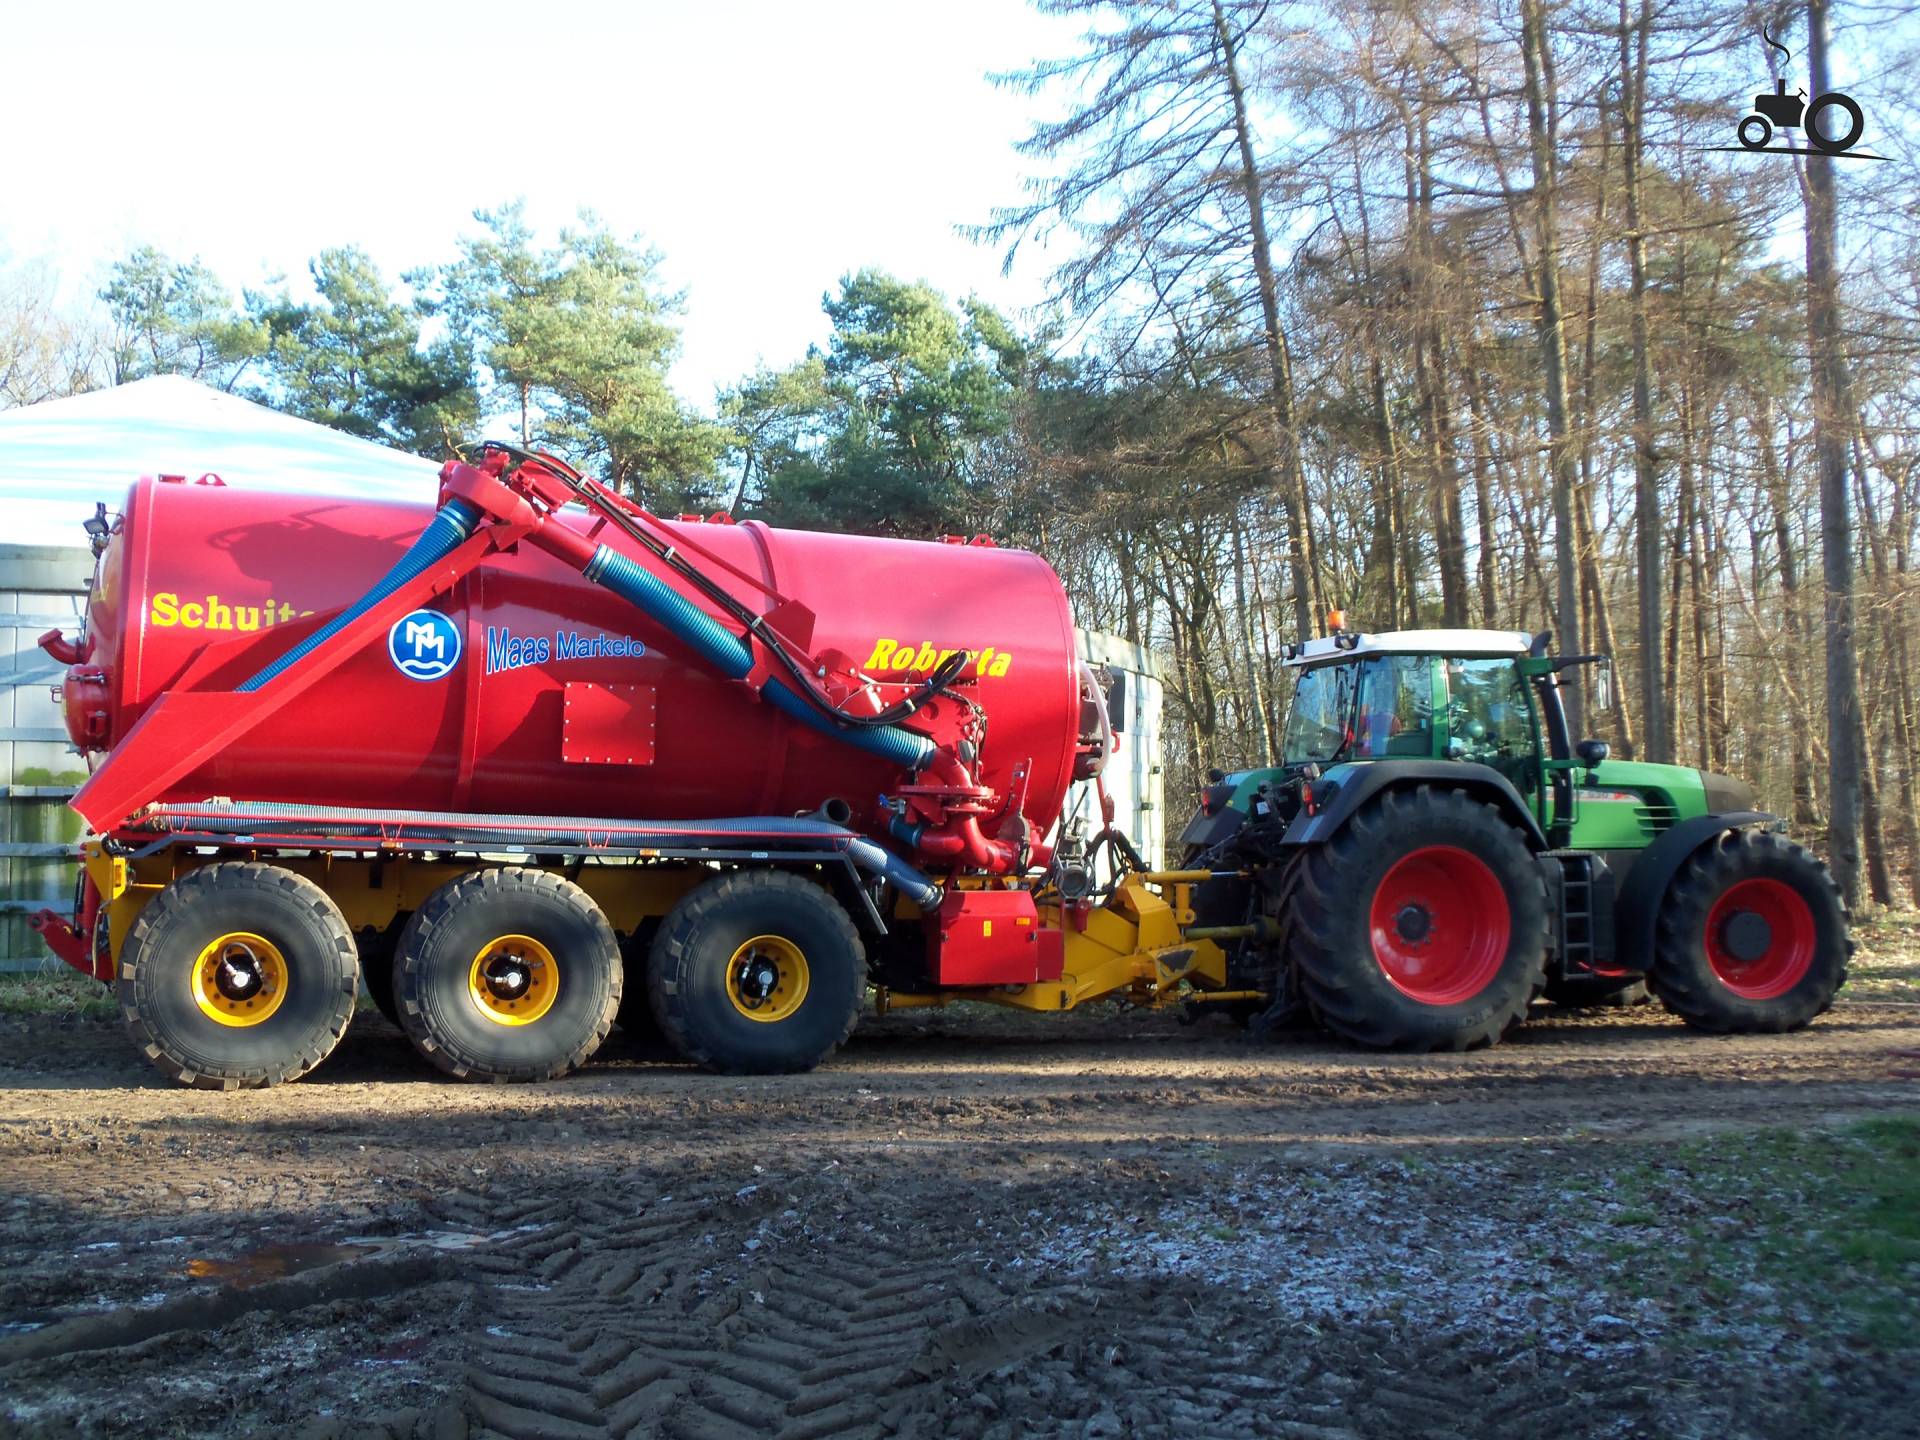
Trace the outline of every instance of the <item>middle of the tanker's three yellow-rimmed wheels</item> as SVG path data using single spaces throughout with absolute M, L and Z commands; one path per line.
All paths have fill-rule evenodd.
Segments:
M 413 912 L 394 958 L 413 1048 L 461 1079 L 536 1081 L 599 1048 L 620 1008 L 607 916 L 545 870 L 474 870 Z

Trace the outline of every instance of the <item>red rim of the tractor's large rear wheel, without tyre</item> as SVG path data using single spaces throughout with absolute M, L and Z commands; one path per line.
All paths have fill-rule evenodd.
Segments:
M 1500 877 L 1453 845 L 1427 845 L 1380 879 L 1367 916 L 1373 958 L 1421 1004 L 1459 1004 L 1500 973 L 1513 914 Z

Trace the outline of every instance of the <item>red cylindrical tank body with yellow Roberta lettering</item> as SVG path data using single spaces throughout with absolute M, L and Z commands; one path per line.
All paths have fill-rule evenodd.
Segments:
M 223 674 L 244 687 L 386 576 L 432 520 L 428 505 L 140 480 L 102 555 L 84 659 L 65 685 L 75 743 L 111 751 L 217 643 L 230 641 Z M 653 564 L 586 509 L 559 522 Z M 1071 611 L 1044 561 L 751 520 L 662 530 L 810 609 L 812 651 L 845 657 L 883 689 L 968 651 L 958 689 L 991 722 L 979 783 L 1014 797 L 1035 835 L 1054 824 L 1081 680 Z M 925 718 L 943 705 L 954 701 L 935 699 Z M 148 799 L 676 820 L 797 814 L 828 799 L 864 814 L 900 780 L 897 764 L 783 714 L 522 543 Z

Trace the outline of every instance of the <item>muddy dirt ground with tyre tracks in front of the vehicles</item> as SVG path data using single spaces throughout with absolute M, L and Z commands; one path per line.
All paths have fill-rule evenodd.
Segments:
M 789 1079 L 616 1033 L 547 1087 L 369 1014 L 244 1094 L 15 1016 L 0 1432 L 1912 1434 L 1920 1271 L 1805 1260 L 1809 1156 L 1920 1112 L 1920 1004 L 1862 995 L 1465 1056 L 956 1008 Z

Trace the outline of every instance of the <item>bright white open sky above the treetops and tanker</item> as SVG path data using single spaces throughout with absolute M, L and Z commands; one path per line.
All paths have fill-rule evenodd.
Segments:
M 1050 109 L 989 71 L 1077 33 L 1021 0 L 21 4 L 0 263 L 86 296 L 152 244 L 238 294 L 355 244 L 397 280 L 476 207 L 524 198 L 547 238 L 588 207 L 685 290 L 672 380 L 710 405 L 824 340 L 864 265 L 1041 300 L 1044 252 L 1002 276 L 954 227 L 1020 200 L 1014 142 Z

